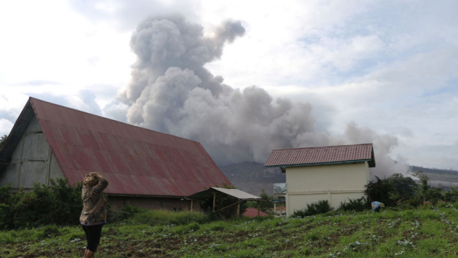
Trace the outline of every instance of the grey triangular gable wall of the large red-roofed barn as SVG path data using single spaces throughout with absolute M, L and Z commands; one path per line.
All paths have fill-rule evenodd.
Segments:
M 37 117 L 32 117 L 12 154 L 10 166 L 0 173 L 0 186 L 12 183 L 12 189 L 33 188 L 34 181 L 49 186 L 50 178 L 63 177 Z

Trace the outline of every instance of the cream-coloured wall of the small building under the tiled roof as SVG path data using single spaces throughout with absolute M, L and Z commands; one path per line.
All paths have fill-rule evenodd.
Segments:
M 287 174 L 287 216 L 307 204 L 328 200 L 333 208 L 341 202 L 364 196 L 369 181 L 367 162 L 289 167 Z

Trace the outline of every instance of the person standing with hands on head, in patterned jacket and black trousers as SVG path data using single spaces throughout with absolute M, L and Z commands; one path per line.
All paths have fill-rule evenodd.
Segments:
M 102 227 L 107 223 L 107 201 L 103 196 L 103 189 L 108 186 L 108 181 L 98 175 L 98 172 L 90 172 L 84 177 L 83 183 L 83 211 L 79 221 L 87 239 L 84 258 L 92 258 L 100 243 Z

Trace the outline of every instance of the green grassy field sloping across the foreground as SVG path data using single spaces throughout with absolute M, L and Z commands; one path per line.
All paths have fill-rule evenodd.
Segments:
M 102 234 L 96 257 L 457 257 L 458 211 L 443 205 L 179 226 L 132 219 Z M 85 240 L 78 226 L 47 226 L 0 231 L 0 245 L 0 257 L 83 257 Z

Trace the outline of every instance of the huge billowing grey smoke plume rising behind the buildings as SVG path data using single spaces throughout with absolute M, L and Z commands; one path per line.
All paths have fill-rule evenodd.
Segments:
M 221 166 L 263 163 L 275 148 L 373 142 L 379 170 L 392 170 L 394 137 L 355 123 L 342 137 L 331 137 L 315 130 L 309 103 L 274 100 L 256 86 L 238 90 L 211 75 L 205 63 L 220 58 L 225 43 L 243 34 L 240 21 L 227 21 L 212 37 L 183 17 L 141 23 L 131 39 L 137 56 L 132 81 L 118 98 L 129 106 L 127 121 L 200 141 Z

